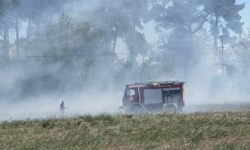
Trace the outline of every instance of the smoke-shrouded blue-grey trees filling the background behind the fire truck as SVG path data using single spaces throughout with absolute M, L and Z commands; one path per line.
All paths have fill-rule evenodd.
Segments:
M 247 100 L 244 7 L 236 0 L 0 0 L 1 101 L 158 80 L 186 81 L 197 100 Z M 152 22 L 153 45 L 145 31 Z M 227 95 L 232 87 L 240 98 Z

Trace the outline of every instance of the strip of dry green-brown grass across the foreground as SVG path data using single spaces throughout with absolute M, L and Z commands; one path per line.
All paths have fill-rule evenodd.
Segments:
M 250 149 L 250 112 L 3 122 L 0 149 Z

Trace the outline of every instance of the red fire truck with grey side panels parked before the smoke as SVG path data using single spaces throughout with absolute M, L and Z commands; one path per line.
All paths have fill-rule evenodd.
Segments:
M 142 82 L 126 85 L 123 110 L 127 113 L 182 111 L 184 82 Z

